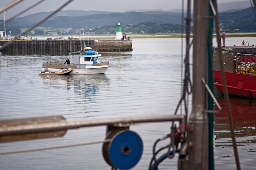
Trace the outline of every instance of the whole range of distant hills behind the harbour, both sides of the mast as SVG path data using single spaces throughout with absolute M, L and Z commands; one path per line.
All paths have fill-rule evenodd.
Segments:
M 220 27 L 228 32 L 234 30 L 256 31 L 256 19 L 252 7 L 250 6 L 251 4 L 247 1 L 218 4 L 218 11 L 224 10 L 219 12 Z M 247 8 L 241 9 L 243 7 Z M 173 11 L 179 10 L 176 9 Z M 20 28 L 29 28 L 49 14 L 49 12 L 43 12 L 18 17 L 7 23 L 7 29 L 11 30 L 12 33 L 18 33 Z M 186 17 L 186 13 L 184 13 L 184 17 Z M 84 26 L 84 28 L 93 29 L 94 32 L 106 34 L 114 33 L 115 25 L 120 21 L 126 32 L 138 33 L 138 31 L 148 31 L 151 33 L 164 33 L 181 31 L 181 20 L 182 13 L 163 10 L 144 12 L 130 11 L 124 13 L 62 10 L 54 15 L 54 17 L 41 24 L 40 27 L 47 27 L 47 31 L 45 30 L 45 32 L 48 32 L 48 30 L 49 32 L 50 30 L 61 32 L 58 30 L 59 28 L 63 28 L 64 30 L 72 28 L 74 33 L 74 31 Z M 16 31 L 14 29 L 16 29 Z M 0 30 L 4 30 L 3 26 L 0 26 Z

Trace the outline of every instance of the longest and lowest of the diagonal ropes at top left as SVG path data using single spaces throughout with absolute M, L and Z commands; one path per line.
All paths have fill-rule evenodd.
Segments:
M 32 29 L 36 28 L 37 26 L 39 26 L 40 24 L 42 24 L 43 22 L 45 22 L 45 20 L 48 20 L 50 17 L 52 17 L 54 14 L 56 14 L 58 11 L 60 11 L 61 9 L 63 9 L 65 6 L 67 6 L 67 4 L 69 4 L 70 2 L 72 2 L 73 0 L 68 0 L 67 2 L 65 2 L 65 4 L 63 4 L 61 7 L 59 7 L 56 11 L 52 12 L 51 14 L 49 14 L 47 17 L 45 17 L 43 20 L 41 20 L 40 22 L 38 22 L 37 24 L 31 26 L 30 28 L 28 28 L 26 31 L 24 31 L 23 33 L 21 33 L 20 35 L 18 35 L 17 37 L 20 36 L 24 36 L 27 32 L 31 31 Z M 2 49 L 6 48 L 7 46 L 11 45 L 13 43 L 13 41 L 15 41 L 17 38 L 14 38 L 13 40 L 5 43 L 2 46 Z

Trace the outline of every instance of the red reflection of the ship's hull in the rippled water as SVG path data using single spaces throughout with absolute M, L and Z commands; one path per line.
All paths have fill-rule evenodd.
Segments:
M 214 114 L 214 135 L 216 147 L 232 146 L 227 107 L 224 98 L 218 98 L 222 111 Z M 230 98 L 234 132 L 238 146 L 256 143 L 256 101 Z M 215 110 L 218 107 L 215 105 Z M 225 138 L 229 138 L 225 140 Z

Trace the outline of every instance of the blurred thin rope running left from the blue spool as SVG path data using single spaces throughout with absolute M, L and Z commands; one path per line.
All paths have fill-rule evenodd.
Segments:
M 85 145 L 92 145 L 92 144 L 101 144 L 110 142 L 111 139 L 106 139 L 103 141 L 94 141 L 94 142 L 85 142 L 80 144 L 67 144 L 67 145 L 61 145 L 61 146 L 51 146 L 51 147 L 42 147 L 42 148 L 33 148 L 33 149 L 22 149 L 22 150 L 13 150 L 13 151 L 5 151 L 0 152 L 0 155 L 8 155 L 8 154 L 16 154 L 16 153 L 27 153 L 27 152 L 35 152 L 35 151 L 41 151 L 41 150 L 52 150 L 52 149 L 60 149 L 60 148 L 70 148 L 75 146 L 85 146 Z

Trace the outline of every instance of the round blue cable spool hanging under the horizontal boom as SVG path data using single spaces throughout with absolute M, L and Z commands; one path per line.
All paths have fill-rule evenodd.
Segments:
M 143 142 L 137 133 L 115 129 L 110 131 L 106 139 L 112 139 L 105 146 L 103 144 L 103 156 L 110 166 L 128 170 L 141 159 Z

